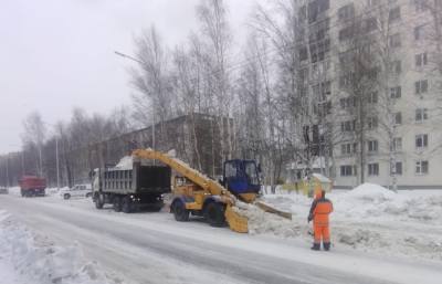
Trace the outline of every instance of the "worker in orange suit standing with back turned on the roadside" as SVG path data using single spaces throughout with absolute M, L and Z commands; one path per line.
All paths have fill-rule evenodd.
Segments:
M 315 199 L 308 214 L 308 222 L 313 220 L 314 243 L 312 250 L 320 250 L 320 241 L 323 241 L 324 250 L 330 250 L 330 229 L 328 215 L 333 212 L 333 203 L 325 198 L 325 190 L 322 190 L 322 197 Z

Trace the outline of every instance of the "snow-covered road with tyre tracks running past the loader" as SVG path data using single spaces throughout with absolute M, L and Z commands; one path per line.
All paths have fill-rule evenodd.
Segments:
M 0 209 L 127 283 L 440 283 L 441 263 L 336 249 L 313 252 L 303 241 L 238 234 L 171 214 L 96 210 L 90 200 L 1 196 Z

